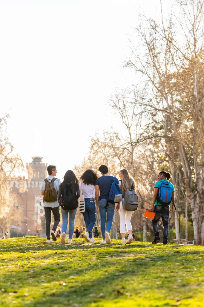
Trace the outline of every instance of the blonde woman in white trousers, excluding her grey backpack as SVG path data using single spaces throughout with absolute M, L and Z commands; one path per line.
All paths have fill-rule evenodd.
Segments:
M 124 202 L 125 192 L 128 189 L 136 189 L 136 183 L 135 180 L 130 176 L 127 169 L 121 169 L 119 172 L 120 180 L 119 182 L 122 192 L 122 203 Z M 130 222 L 131 216 L 133 211 L 126 211 L 123 209 L 123 206 L 120 206 L 119 214 L 121 219 L 121 226 L 120 226 L 120 233 L 121 233 L 121 244 L 125 244 L 125 233 L 128 232 L 128 239 L 126 241 L 126 244 L 130 244 L 133 240 L 132 238 L 132 225 Z M 125 231 L 126 226 L 126 231 Z

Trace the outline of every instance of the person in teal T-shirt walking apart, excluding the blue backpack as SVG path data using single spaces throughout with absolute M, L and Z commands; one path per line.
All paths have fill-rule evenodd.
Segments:
M 164 226 L 163 244 L 168 243 L 169 213 L 172 214 L 173 212 L 174 192 L 175 192 L 174 186 L 172 185 L 171 182 L 169 182 L 170 179 L 171 179 L 171 174 L 169 172 L 161 171 L 158 174 L 158 181 L 155 183 L 154 186 L 155 190 L 152 199 L 152 204 L 151 207 L 148 209 L 149 211 L 152 211 L 154 208 L 153 211 L 156 212 L 154 220 L 152 220 L 152 227 L 154 230 L 154 240 L 152 241 L 152 244 L 157 244 L 158 242 L 161 242 L 157 225 L 160 218 L 162 219 L 162 223 Z M 164 181 L 168 181 L 168 184 L 172 190 L 172 202 L 170 210 L 169 210 L 170 204 L 160 204 L 157 200 L 159 188 L 161 187 L 161 184 Z

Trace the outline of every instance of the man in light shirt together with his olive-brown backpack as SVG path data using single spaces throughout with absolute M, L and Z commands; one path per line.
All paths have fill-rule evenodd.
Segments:
M 59 211 L 59 202 L 58 202 L 58 188 L 60 185 L 60 180 L 54 178 L 57 175 L 57 169 L 55 165 L 48 165 L 47 167 L 48 177 L 42 181 L 41 194 L 43 197 L 44 210 L 45 210 L 45 220 L 46 220 L 46 243 L 52 243 L 52 239 L 57 241 L 55 231 L 60 222 L 60 211 Z M 51 223 L 51 212 L 54 215 L 54 225 L 52 227 L 50 239 L 50 223 Z

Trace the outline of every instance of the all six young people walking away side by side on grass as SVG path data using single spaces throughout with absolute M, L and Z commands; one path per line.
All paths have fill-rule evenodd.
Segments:
M 130 244 L 133 241 L 132 237 L 132 224 L 131 217 L 133 211 L 127 211 L 123 208 L 124 196 L 126 191 L 129 189 L 136 191 L 136 183 L 134 178 L 129 174 L 127 169 L 121 169 L 117 177 L 113 177 L 108 173 L 107 165 L 100 165 L 98 171 L 101 173 L 101 177 L 93 170 L 86 170 L 80 177 L 80 183 L 72 170 L 68 170 L 65 173 L 63 181 L 60 182 L 57 175 L 57 169 L 55 165 L 49 165 L 47 167 L 48 177 L 42 181 L 41 194 L 44 196 L 44 209 L 46 217 L 46 243 L 52 243 L 52 240 L 56 241 L 57 237 L 55 231 L 60 222 L 60 211 L 62 214 L 62 230 L 61 230 L 61 243 L 65 244 L 66 231 L 68 226 L 68 216 L 69 216 L 69 238 L 68 243 L 72 242 L 72 236 L 74 233 L 74 220 L 77 212 L 77 205 L 73 204 L 72 209 L 67 210 L 63 206 L 63 200 L 66 197 L 72 199 L 73 191 L 76 196 L 76 200 L 79 199 L 80 193 L 83 187 L 83 195 L 85 201 L 85 211 L 83 212 L 83 218 L 86 225 L 86 232 L 83 234 L 84 239 L 87 242 L 95 243 L 92 231 L 96 223 L 96 210 L 100 213 L 100 226 L 102 233 L 102 244 L 111 243 L 110 231 L 113 224 L 113 216 L 115 209 L 120 215 L 120 233 L 121 233 L 121 244 Z M 158 175 L 159 181 L 166 181 L 170 179 L 170 173 L 164 171 L 160 172 Z M 109 202 L 108 196 L 112 183 L 119 185 L 122 194 L 122 201 L 118 203 Z M 172 185 L 172 184 L 171 184 Z M 50 199 L 48 201 L 48 187 L 50 188 Z M 174 188 L 172 185 L 172 199 Z M 157 194 L 159 190 L 158 181 L 155 184 L 155 192 L 153 196 L 152 206 L 148 209 L 151 211 L 153 207 L 159 206 L 157 202 Z M 57 195 L 57 196 L 56 196 Z M 67 196 L 68 195 L 68 196 Z M 69 197 L 70 196 L 70 197 Z M 52 199 L 54 201 L 52 201 Z M 174 200 L 174 199 L 173 199 Z M 157 202 L 157 203 L 156 203 Z M 169 219 L 169 205 L 159 206 L 162 210 L 157 210 L 153 224 L 155 242 L 156 244 L 160 242 L 157 222 L 162 217 L 163 225 L 165 227 L 164 240 L 163 243 L 167 243 L 168 239 L 168 219 Z M 165 207 L 165 208 L 164 208 Z M 156 209 L 154 209 L 155 211 Z M 171 206 L 170 213 L 173 211 L 173 206 Z M 51 231 L 52 239 L 50 238 L 50 223 L 51 223 L 51 212 L 54 215 L 54 225 Z M 125 241 L 125 234 L 128 232 L 128 239 Z M 166 240 L 166 241 L 165 241 Z M 166 243 L 165 243 L 166 242 Z

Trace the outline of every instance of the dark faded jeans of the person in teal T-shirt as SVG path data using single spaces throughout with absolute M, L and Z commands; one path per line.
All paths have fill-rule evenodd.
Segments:
M 158 237 L 159 236 L 159 231 L 158 231 L 158 226 L 157 223 L 161 217 L 162 223 L 164 226 L 164 234 L 163 234 L 163 239 L 168 240 L 168 232 L 169 232 L 169 206 L 167 205 L 157 205 L 154 206 L 153 209 L 154 212 L 156 212 L 154 216 L 154 220 L 152 220 L 152 227 L 154 230 L 154 236 Z

